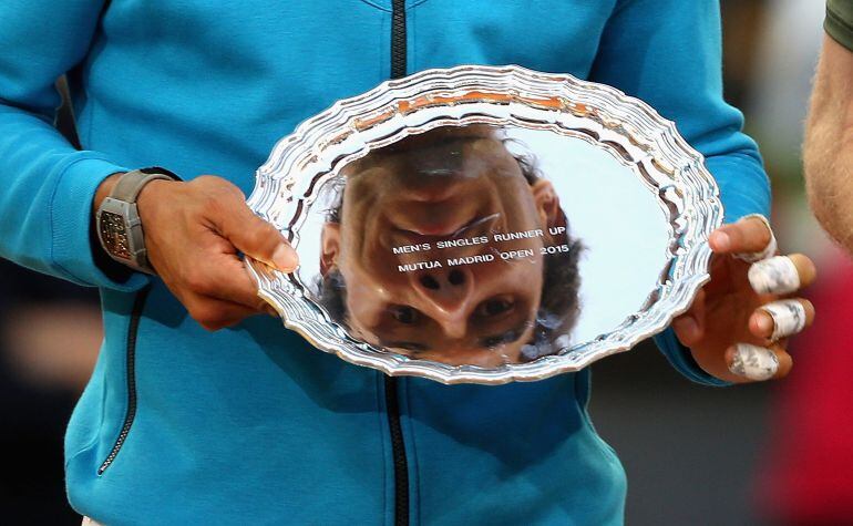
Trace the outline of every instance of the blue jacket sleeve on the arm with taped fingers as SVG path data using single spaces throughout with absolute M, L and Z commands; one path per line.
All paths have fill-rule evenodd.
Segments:
M 722 44 L 717 0 L 619 0 L 605 28 L 589 80 L 637 96 L 706 157 L 720 186 L 726 221 L 769 216 L 770 183 L 743 115 L 722 97 Z M 688 379 L 727 385 L 700 369 L 671 329 L 655 338 Z

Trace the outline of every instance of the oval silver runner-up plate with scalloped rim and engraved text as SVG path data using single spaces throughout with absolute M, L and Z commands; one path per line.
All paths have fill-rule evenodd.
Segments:
M 471 175 L 508 158 L 526 179 Z M 486 194 L 510 204 L 482 215 Z M 708 280 L 722 223 L 717 183 L 674 123 L 610 86 L 518 66 L 428 70 L 339 101 L 279 141 L 248 204 L 300 257 L 292 275 L 248 261 L 287 328 L 348 362 L 443 383 L 542 380 L 660 332 Z M 542 228 L 512 219 L 524 214 Z M 517 293 L 485 291 L 489 269 Z

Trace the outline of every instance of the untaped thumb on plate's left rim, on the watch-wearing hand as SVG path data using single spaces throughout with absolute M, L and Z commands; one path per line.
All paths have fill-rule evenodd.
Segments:
M 223 219 L 223 235 L 243 254 L 282 272 L 292 272 L 299 256 L 276 227 L 256 216 L 245 204 L 240 213 Z

